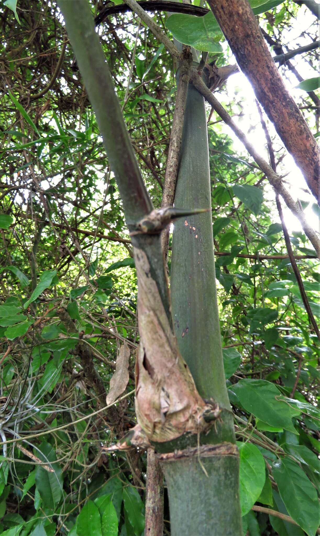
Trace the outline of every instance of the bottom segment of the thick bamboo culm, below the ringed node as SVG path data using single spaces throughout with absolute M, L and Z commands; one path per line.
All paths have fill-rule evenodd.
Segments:
M 161 461 L 172 536 L 241 536 L 236 456 Z

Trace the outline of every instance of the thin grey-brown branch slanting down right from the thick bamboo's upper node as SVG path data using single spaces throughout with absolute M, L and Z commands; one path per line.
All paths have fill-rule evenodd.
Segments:
M 316 235 L 315 230 L 312 229 L 312 227 L 308 224 L 303 211 L 295 203 L 290 193 L 285 189 L 284 185 L 282 184 L 281 177 L 277 175 L 276 173 L 274 173 L 271 166 L 269 166 L 269 164 L 264 160 L 264 158 L 261 157 L 258 151 L 256 151 L 255 147 L 249 142 L 247 137 L 245 137 L 244 133 L 235 124 L 232 117 L 229 116 L 228 112 L 224 109 L 224 107 L 220 104 L 220 102 L 215 98 L 215 96 L 211 93 L 211 91 L 206 87 L 204 81 L 200 79 L 196 71 L 192 72 L 191 80 L 194 86 L 197 88 L 197 90 L 200 93 L 202 93 L 204 98 L 209 102 L 212 108 L 218 113 L 221 119 L 224 120 L 224 122 L 228 126 L 230 126 L 230 128 L 233 130 L 236 136 L 240 139 L 244 147 L 247 149 L 248 153 L 256 161 L 259 168 L 266 175 L 267 179 L 269 180 L 273 188 L 277 190 L 277 192 L 280 193 L 280 195 L 284 198 L 285 203 L 288 206 L 288 208 L 300 221 L 301 226 L 304 230 L 304 233 L 306 233 L 306 235 L 308 236 L 311 244 L 316 250 L 317 257 L 320 259 L 320 240 L 318 239 L 318 236 Z

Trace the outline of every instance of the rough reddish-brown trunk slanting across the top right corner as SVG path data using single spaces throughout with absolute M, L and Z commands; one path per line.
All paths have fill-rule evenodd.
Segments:
M 242 72 L 278 135 L 319 199 L 320 150 L 299 108 L 286 90 L 247 0 L 208 0 Z

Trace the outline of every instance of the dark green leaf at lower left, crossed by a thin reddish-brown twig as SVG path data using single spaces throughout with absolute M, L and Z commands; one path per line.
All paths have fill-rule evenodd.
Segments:
M 42 503 L 46 508 L 56 509 L 61 497 L 63 489 L 62 470 L 58 463 L 56 453 L 50 443 L 41 443 L 36 450 L 38 456 L 46 463 L 54 472 L 46 471 L 41 465 L 38 465 L 35 470 L 35 485 L 42 499 Z

